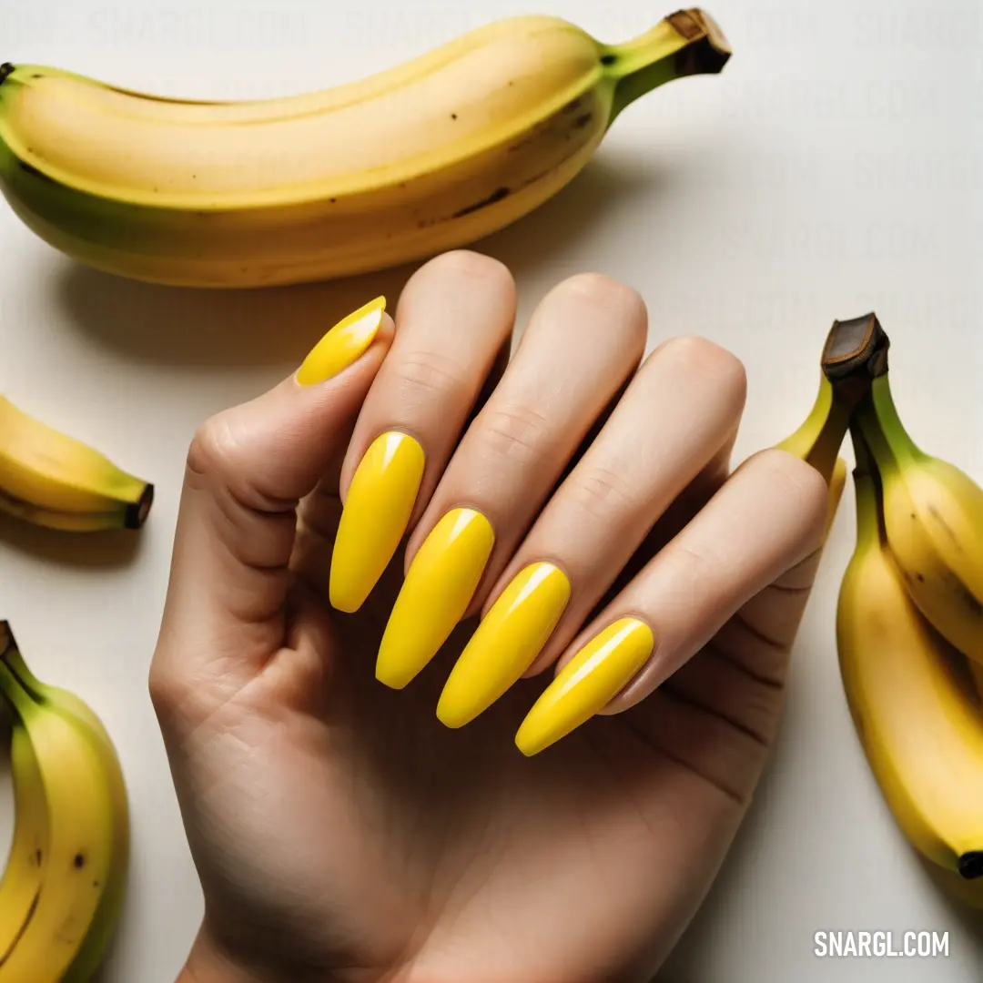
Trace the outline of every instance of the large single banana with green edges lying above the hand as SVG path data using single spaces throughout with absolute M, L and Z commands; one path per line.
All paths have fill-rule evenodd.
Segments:
M 700 10 L 623 44 L 517 17 L 376 76 L 195 102 L 0 67 L 0 189 L 42 239 L 110 272 L 243 287 L 326 279 L 471 243 L 538 207 L 613 119 L 717 73 Z

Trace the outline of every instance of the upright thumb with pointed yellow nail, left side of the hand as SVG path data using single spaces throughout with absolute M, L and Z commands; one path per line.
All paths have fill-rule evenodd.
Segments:
M 238 689 L 283 644 L 296 508 L 344 450 L 392 340 L 385 299 L 294 376 L 212 417 L 188 453 L 151 690 Z M 180 695 L 180 694 L 176 694 Z

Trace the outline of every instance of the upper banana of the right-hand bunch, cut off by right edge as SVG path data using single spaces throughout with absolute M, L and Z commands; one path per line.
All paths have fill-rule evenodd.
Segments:
M 915 446 L 887 369 L 856 422 L 882 476 L 887 541 L 911 599 L 956 649 L 983 663 L 983 489 Z

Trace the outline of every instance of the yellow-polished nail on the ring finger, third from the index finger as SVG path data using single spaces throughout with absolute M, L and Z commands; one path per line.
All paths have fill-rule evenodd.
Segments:
M 536 661 L 570 600 L 552 563 L 532 563 L 502 591 L 447 678 L 436 716 L 461 727 L 492 706 Z

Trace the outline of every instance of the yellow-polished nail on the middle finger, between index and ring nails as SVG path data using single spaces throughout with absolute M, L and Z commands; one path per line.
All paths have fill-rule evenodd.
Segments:
M 456 508 L 434 526 L 385 626 L 376 659 L 379 682 L 402 689 L 434 658 L 471 604 L 492 546 L 492 524 L 472 508 Z

